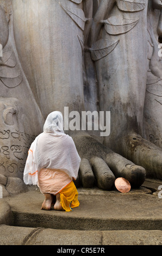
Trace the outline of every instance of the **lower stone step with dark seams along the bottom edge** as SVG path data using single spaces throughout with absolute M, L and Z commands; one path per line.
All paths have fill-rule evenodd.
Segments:
M 107 249 L 107 245 L 161 245 L 161 230 L 60 230 L 0 225 L 0 245 L 56 245 L 53 252 L 73 248 L 85 253 L 85 246 Z M 61 246 L 60 246 L 61 245 Z M 77 245 L 75 247 L 75 245 Z M 84 245 L 84 246 L 83 246 Z M 72 247 L 74 246 L 74 247 Z M 81 247 L 78 247 L 81 246 Z M 93 250 L 90 249 L 89 250 Z M 98 251 L 98 249 L 96 249 Z M 96 252 L 97 252 L 96 251 Z M 90 252 L 90 251 L 89 251 Z

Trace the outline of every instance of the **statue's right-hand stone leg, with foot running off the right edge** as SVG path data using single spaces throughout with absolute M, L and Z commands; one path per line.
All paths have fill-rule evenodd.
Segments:
M 114 7 L 109 21 L 111 19 L 111 24 L 117 26 L 117 21 L 113 20 L 115 16 L 121 21 L 138 22 L 129 31 L 119 22 L 118 31 L 110 30 L 109 26 L 104 27 L 101 34 L 101 38 L 119 40 L 113 52 L 96 62 L 100 109 L 111 111 L 111 133 L 105 137 L 104 145 L 144 167 L 147 176 L 161 179 L 162 150 L 142 138 L 148 70 L 147 6 L 132 13 Z

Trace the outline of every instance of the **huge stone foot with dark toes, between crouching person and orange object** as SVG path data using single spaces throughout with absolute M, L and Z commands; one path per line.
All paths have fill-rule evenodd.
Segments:
M 83 187 L 97 185 L 103 190 L 111 190 L 119 177 L 127 179 L 132 187 L 140 187 L 145 181 L 143 167 L 114 153 L 91 136 L 77 135 L 73 140 L 82 159 L 79 176 Z

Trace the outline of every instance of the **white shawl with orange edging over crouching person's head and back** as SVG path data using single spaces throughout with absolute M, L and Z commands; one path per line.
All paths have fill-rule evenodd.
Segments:
M 77 179 L 80 157 L 73 139 L 64 133 L 63 115 L 59 111 L 50 113 L 43 132 L 35 138 L 28 151 L 24 168 L 25 184 L 38 184 L 38 172 L 42 168 L 59 169 L 74 180 Z

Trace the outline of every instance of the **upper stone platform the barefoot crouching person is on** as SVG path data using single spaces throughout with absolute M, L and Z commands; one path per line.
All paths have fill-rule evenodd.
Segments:
M 71 212 L 41 210 L 39 190 L 7 198 L 11 225 L 63 230 L 161 230 L 162 199 L 141 187 L 129 193 L 78 189 L 78 208 Z

